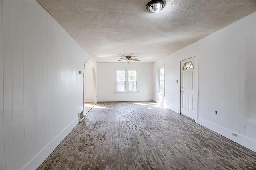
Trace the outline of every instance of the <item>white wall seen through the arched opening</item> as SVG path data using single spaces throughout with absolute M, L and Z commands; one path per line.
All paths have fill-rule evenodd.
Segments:
M 92 67 L 90 63 L 86 63 L 85 72 L 84 72 L 84 85 L 85 85 L 85 94 L 84 101 L 93 102 L 93 76 L 92 76 Z

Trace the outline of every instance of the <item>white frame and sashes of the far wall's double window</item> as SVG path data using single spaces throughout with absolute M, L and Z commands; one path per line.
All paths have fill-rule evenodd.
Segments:
M 124 91 L 117 91 L 117 71 L 124 71 Z M 128 77 L 128 71 L 136 71 L 136 81 L 130 80 Z M 136 82 L 136 91 L 129 91 L 129 82 Z M 114 93 L 137 93 L 138 90 L 138 68 L 114 68 Z

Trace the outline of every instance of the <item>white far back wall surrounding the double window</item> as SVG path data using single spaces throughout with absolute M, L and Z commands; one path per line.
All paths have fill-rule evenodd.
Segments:
M 97 63 L 98 101 L 152 100 L 152 63 Z M 138 93 L 114 94 L 114 68 L 138 68 Z

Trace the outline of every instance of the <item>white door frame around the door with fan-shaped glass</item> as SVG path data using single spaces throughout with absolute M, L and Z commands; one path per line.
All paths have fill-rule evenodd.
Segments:
M 193 63 L 194 65 L 194 71 L 195 71 L 195 101 L 196 101 L 196 108 L 195 108 L 195 113 L 196 113 L 196 118 L 195 118 L 195 122 L 197 122 L 198 119 L 198 51 L 196 53 L 192 53 L 190 55 L 186 55 L 184 57 L 180 58 L 180 83 L 179 83 L 179 88 L 178 88 L 178 93 L 180 93 L 180 87 L 181 87 L 181 68 L 183 65 L 181 65 L 181 61 L 190 59 L 192 57 L 195 57 L 195 63 Z M 181 114 L 181 93 L 179 95 L 179 101 L 180 101 L 180 107 L 179 107 L 179 113 Z

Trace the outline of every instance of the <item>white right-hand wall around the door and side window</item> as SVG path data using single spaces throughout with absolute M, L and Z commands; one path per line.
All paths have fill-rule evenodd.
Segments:
M 176 83 L 180 81 L 180 60 L 198 52 L 196 121 L 256 151 L 255 25 L 256 13 L 253 13 L 153 63 L 154 101 L 160 99 L 155 69 L 166 64 L 163 104 L 180 111 L 180 83 Z

